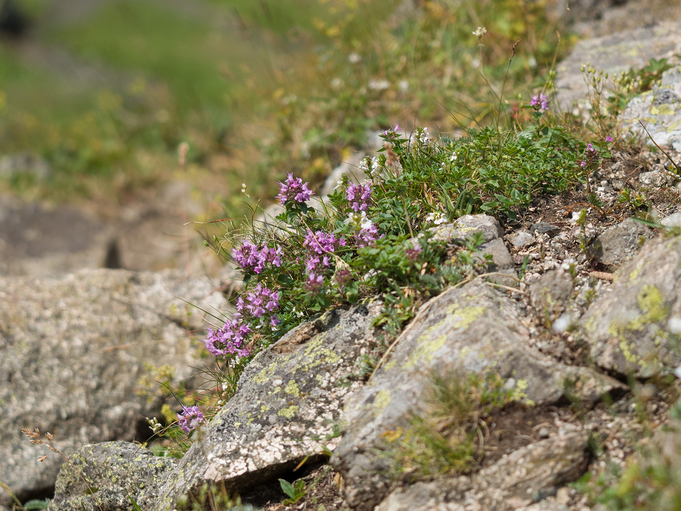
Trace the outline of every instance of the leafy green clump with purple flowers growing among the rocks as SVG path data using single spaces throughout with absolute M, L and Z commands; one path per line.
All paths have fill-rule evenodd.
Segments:
M 434 236 L 441 224 L 469 213 L 514 219 L 537 196 L 585 181 L 582 155 L 592 147 L 607 153 L 609 141 L 587 145 L 569 129 L 548 125 L 548 97 L 540 98 L 527 106 L 539 123 L 524 130 L 471 129 L 461 138 L 436 138 L 423 128 L 407 138 L 398 126 L 387 129 L 384 149 L 360 163 L 367 176 L 362 183 L 345 174 L 332 193 L 317 198 L 289 174 L 280 183 L 283 212 L 274 223 L 232 225 L 223 239 L 215 238 L 217 251 L 244 275 L 233 297 L 236 312 L 212 315 L 204 339 L 219 365 L 218 404 L 234 394 L 259 350 L 330 307 L 381 294 L 385 307 L 375 326 L 384 332 L 377 352 L 384 350 L 424 300 L 488 268 L 490 258 L 475 255 L 482 236 L 443 240 Z M 369 370 L 380 355 L 364 360 Z M 186 427 L 198 424 L 185 416 Z

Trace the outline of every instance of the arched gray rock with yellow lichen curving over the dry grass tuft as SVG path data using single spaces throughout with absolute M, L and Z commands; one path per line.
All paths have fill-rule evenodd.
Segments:
M 529 334 L 516 303 L 479 281 L 430 300 L 402 332 L 390 360 L 368 386 L 353 393 L 343 412 L 343 439 L 332 465 L 345 481 L 354 510 L 368 511 L 385 497 L 389 461 L 381 456 L 383 434 L 409 426 L 428 395 L 428 376 L 438 371 L 494 372 L 516 388 L 525 403 L 541 405 L 563 397 L 565 382 L 589 401 L 621 388 L 591 369 L 560 364 L 529 347 Z

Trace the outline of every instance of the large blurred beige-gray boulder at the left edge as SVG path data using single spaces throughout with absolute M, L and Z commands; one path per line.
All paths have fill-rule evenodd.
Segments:
M 57 478 L 61 458 L 37 463 L 49 451 L 29 444 L 22 427 L 53 433 L 67 456 L 86 443 L 138 435 L 161 404 L 155 383 L 149 396 L 138 395 L 140 378 L 151 376 L 145 363 L 175 367 L 177 380 L 196 373 L 191 332 L 204 322 L 187 302 L 225 309 L 215 287 L 175 271 L 0 277 L 1 480 L 22 499 Z M 10 505 L 4 492 L 0 504 Z

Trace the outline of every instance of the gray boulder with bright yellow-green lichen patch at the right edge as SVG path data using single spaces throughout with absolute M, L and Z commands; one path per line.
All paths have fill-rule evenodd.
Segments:
M 678 367 L 669 318 L 681 317 L 681 236 L 647 243 L 590 305 L 580 332 L 597 365 L 650 377 Z

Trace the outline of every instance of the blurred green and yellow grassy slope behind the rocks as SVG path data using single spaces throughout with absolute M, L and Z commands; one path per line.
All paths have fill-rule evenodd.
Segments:
M 186 141 L 206 217 L 242 213 L 241 183 L 319 183 L 368 130 L 522 122 L 561 22 L 543 0 L 14 1 L 30 26 L 0 45 L 0 157 L 51 172 L 0 189 L 116 208 L 178 179 Z

